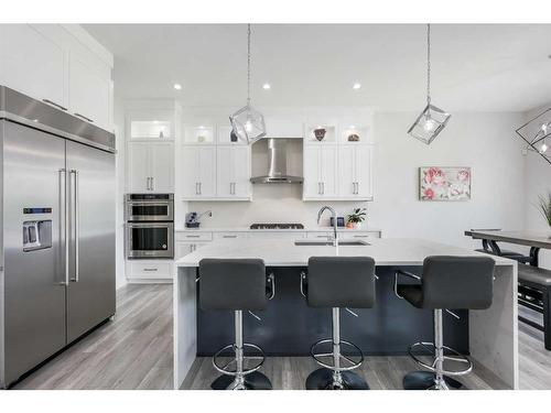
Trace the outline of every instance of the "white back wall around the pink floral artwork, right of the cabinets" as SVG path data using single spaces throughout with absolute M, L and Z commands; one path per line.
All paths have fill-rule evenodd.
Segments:
M 376 200 L 370 219 L 386 237 L 418 237 L 477 247 L 471 228 L 522 229 L 523 167 L 519 113 L 453 113 L 426 146 L 406 131 L 415 113 L 378 113 Z M 472 199 L 420 202 L 419 166 L 471 166 Z

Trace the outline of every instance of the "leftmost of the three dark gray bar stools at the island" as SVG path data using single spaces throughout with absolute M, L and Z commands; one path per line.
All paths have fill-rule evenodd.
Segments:
M 266 275 L 262 260 L 203 259 L 199 262 L 199 303 L 202 309 L 234 312 L 235 343 L 220 348 L 213 357 L 214 368 L 222 373 L 210 387 L 214 390 L 271 390 L 270 380 L 259 372 L 266 355 L 260 347 L 244 343 L 242 312 L 266 309 L 276 294 L 273 274 Z M 257 317 L 258 318 L 258 317 Z M 227 350 L 235 356 L 225 365 L 218 358 Z M 246 356 L 245 350 L 255 351 Z M 251 362 L 250 367 L 246 367 Z

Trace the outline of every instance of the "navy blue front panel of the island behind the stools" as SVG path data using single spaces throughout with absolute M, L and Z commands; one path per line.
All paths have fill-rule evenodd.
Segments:
M 415 341 L 433 341 L 432 311 L 414 308 L 395 295 L 396 269 L 377 267 L 379 280 L 374 308 L 354 309 L 359 317 L 341 312 L 342 339 L 356 344 L 365 355 L 406 355 Z M 421 267 L 401 269 L 415 274 L 421 271 Z M 276 275 L 276 297 L 269 302 L 267 311 L 258 313 L 261 320 L 244 313 L 245 341 L 260 346 L 269 356 L 307 356 L 315 341 L 331 338 L 332 312 L 309 308 L 300 292 L 302 268 L 268 270 Z M 346 280 L 345 274 L 343 280 Z M 198 289 L 201 283 L 197 283 L 197 298 Z M 468 312 L 455 313 L 461 319 L 444 313 L 444 343 L 461 354 L 468 354 Z M 197 303 L 197 356 L 213 356 L 231 343 L 233 312 L 204 312 Z

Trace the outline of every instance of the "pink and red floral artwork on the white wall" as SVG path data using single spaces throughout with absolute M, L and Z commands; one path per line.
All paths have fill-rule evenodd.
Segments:
M 471 199 L 471 167 L 423 166 L 419 181 L 421 200 Z

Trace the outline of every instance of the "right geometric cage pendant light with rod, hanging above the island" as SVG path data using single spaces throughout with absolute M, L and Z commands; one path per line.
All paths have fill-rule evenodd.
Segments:
M 431 25 L 426 24 L 426 106 L 408 133 L 421 142 L 431 144 L 445 128 L 451 115 L 431 104 Z

